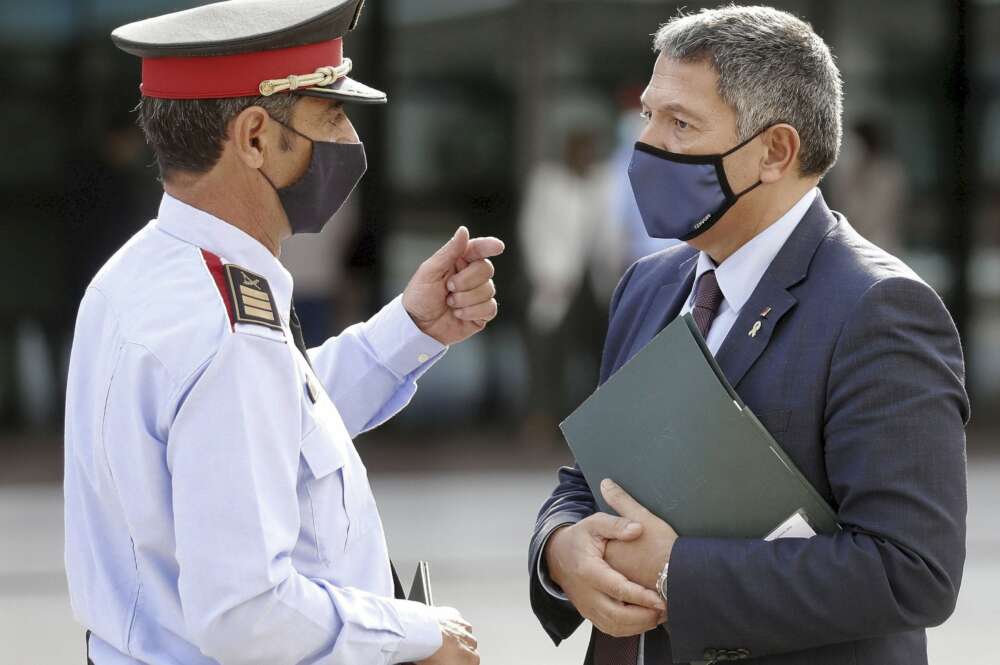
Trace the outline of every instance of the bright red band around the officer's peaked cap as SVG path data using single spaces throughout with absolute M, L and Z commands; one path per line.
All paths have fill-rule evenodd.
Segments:
M 143 58 L 139 89 L 144 97 L 160 99 L 254 97 L 261 94 L 262 81 L 340 67 L 343 61 L 340 37 L 255 53 Z

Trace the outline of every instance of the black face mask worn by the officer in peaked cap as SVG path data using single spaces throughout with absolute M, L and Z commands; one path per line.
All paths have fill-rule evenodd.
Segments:
M 313 141 L 294 127 L 282 122 L 278 124 L 312 144 L 309 168 L 301 178 L 281 189 L 275 187 L 263 171 L 260 174 L 278 194 L 292 234 L 319 233 L 344 205 L 365 174 L 368 168 L 365 146 L 361 143 Z

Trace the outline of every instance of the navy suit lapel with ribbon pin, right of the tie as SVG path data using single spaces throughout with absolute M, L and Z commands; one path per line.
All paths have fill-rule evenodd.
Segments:
M 750 299 L 743 305 L 739 317 L 715 354 L 733 388 L 767 348 L 778 322 L 795 307 L 798 300 L 791 289 L 806 278 L 820 242 L 836 223 L 837 219 L 826 206 L 823 195 L 818 193 Z M 758 322 L 759 327 L 756 325 Z M 751 335 L 754 328 L 757 332 Z

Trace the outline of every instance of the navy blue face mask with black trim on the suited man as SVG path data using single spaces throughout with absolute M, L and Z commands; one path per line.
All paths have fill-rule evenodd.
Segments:
M 720 155 L 681 155 L 637 142 L 628 177 L 650 237 L 685 241 L 697 238 L 741 196 L 758 187 L 760 180 L 734 194 L 722 160 L 763 132 Z

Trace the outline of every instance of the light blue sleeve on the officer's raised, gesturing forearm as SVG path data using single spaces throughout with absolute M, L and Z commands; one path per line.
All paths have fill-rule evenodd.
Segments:
M 365 323 L 310 349 L 309 357 L 354 437 L 409 404 L 417 380 L 446 348 L 417 328 L 398 296 Z

